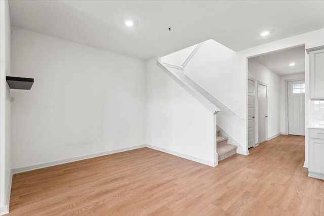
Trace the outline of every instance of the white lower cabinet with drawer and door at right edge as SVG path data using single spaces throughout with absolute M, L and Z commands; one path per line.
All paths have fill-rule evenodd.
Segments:
M 308 176 L 324 180 L 324 129 L 309 128 Z

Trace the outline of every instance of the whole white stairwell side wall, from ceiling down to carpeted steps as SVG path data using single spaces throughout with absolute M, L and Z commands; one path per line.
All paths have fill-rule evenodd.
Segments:
M 222 106 L 217 125 L 237 153 L 248 154 L 247 147 L 247 59 L 214 40 L 207 40 L 185 66 L 185 74 L 217 98 Z

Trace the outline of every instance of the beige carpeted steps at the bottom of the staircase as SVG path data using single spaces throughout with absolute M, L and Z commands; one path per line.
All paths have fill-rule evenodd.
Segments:
M 217 129 L 217 154 L 218 161 L 224 160 L 236 154 L 237 146 L 232 144 L 227 144 L 227 137 L 219 136 L 219 129 Z

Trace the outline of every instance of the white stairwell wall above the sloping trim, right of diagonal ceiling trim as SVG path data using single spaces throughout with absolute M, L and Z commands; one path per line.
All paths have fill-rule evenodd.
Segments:
M 247 115 L 246 58 L 207 40 L 185 67 L 185 74 L 241 116 Z

